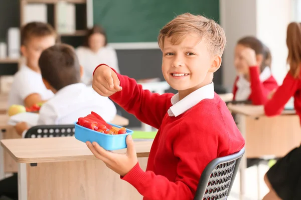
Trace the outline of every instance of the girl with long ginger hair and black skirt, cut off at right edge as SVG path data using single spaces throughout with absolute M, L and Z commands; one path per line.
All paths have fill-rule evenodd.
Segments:
M 267 116 L 280 114 L 286 102 L 294 97 L 294 109 L 301 118 L 301 24 L 291 22 L 287 27 L 286 45 L 289 71 L 283 83 L 264 105 Z M 285 133 L 284 133 L 285 134 Z M 270 192 L 264 200 L 301 199 L 301 146 L 298 146 L 280 158 L 264 176 Z

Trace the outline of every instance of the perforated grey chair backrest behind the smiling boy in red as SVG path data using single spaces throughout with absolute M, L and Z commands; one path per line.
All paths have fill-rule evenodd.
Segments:
M 194 200 L 225 200 L 230 194 L 239 162 L 245 149 L 218 157 L 206 166 L 197 187 Z

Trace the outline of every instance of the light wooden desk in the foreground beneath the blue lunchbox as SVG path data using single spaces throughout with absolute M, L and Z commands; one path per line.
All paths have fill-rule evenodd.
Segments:
M 143 170 L 153 140 L 134 141 Z M 142 199 L 74 136 L 1 140 L 18 162 L 19 200 Z M 124 153 L 126 149 L 115 152 Z

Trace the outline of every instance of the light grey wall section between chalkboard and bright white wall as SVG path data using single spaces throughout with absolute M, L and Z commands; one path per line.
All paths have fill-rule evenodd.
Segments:
M 220 20 L 225 30 L 227 43 L 222 58 L 223 85 L 232 91 L 236 76 L 234 48 L 237 40 L 245 35 L 256 35 L 255 0 L 220 0 Z

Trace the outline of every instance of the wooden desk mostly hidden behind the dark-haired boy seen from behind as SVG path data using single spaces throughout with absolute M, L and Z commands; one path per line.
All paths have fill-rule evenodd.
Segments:
M 15 127 L 8 124 L 9 118 L 9 115 L 7 114 L 0 114 L 0 140 L 21 138 L 21 135 L 16 132 Z M 125 126 L 128 125 L 128 119 L 120 115 L 116 115 L 111 123 Z M 18 165 L 16 161 L 8 152 L 3 150 L 2 146 L 0 146 L 0 179 L 5 177 L 5 173 L 14 173 L 17 171 Z

